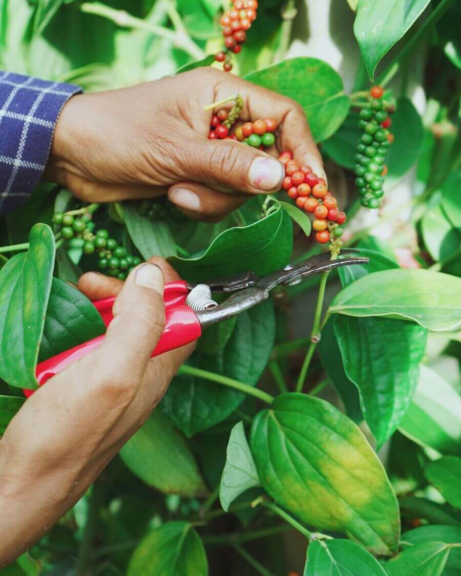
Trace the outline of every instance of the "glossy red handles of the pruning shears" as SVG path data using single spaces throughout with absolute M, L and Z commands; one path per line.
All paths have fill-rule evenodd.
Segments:
M 201 325 L 194 310 L 184 304 L 186 297 L 187 287 L 185 282 L 172 282 L 165 285 L 166 324 L 163 334 L 152 353 L 153 357 L 194 342 L 194 340 L 200 338 L 202 334 Z M 103 300 L 93 302 L 106 326 L 109 325 L 113 318 L 112 304 L 114 300 L 115 298 L 104 298 Z M 103 339 L 104 335 L 98 336 L 97 338 L 93 338 L 93 340 L 84 342 L 79 346 L 74 346 L 74 348 L 70 348 L 70 350 L 65 350 L 61 354 L 40 362 L 35 372 L 39 385 L 44 384 L 49 378 L 61 372 L 61 370 L 65 369 L 66 366 L 69 366 L 69 364 L 75 360 L 95 350 Z M 33 393 L 33 390 L 24 390 L 23 392 L 26 397 L 29 397 Z

